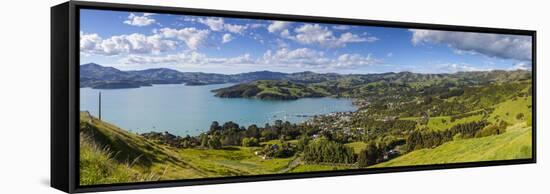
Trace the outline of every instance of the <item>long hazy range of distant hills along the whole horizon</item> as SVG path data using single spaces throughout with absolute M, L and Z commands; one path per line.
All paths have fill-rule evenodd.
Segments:
M 506 80 L 528 79 L 529 71 L 480 71 L 458 72 L 454 74 L 419 74 L 411 72 L 381 74 L 336 74 L 311 71 L 281 73 L 255 71 L 239 74 L 217 74 L 202 72 L 180 72 L 168 68 L 122 71 L 95 63 L 80 65 L 80 87 L 91 88 L 136 88 L 152 84 L 208 85 L 221 83 L 248 83 L 257 80 L 290 81 L 295 84 L 329 84 L 331 90 L 364 84 L 426 84 L 503 82 Z M 330 85 L 332 84 L 332 85 Z M 338 91 L 329 91 L 334 94 Z M 223 96 L 223 95 L 220 95 Z

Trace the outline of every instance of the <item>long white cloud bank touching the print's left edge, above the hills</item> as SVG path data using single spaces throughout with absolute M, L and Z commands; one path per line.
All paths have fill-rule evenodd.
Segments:
M 134 33 L 104 39 L 98 34 L 80 33 L 80 52 L 83 54 L 145 54 L 160 53 L 175 48 L 175 41 L 165 40 L 158 34 L 146 36 Z

